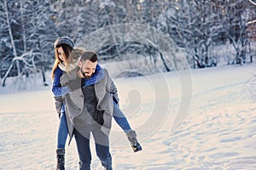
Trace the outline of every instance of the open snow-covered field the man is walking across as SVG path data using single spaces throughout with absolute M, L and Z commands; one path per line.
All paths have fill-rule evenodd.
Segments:
M 256 81 L 247 82 L 254 74 L 255 65 L 231 65 L 115 79 L 143 151 L 133 153 L 113 122 L 113 168 L 256 169 Z M 55 169 L 58 117 L 50 87 L 0 94 L 0 169 Z M 93 142 L 91 150 L 92 169 L 103 169 Z M 75 140 L 66 160 L 67 170 L 78 169 Z

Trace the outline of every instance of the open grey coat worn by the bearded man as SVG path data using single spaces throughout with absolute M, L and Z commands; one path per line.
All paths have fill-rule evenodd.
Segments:
M 102 68 L 103 69 L 103 68 Z M 68 81 L 77 78 L 77 71 L 79 67 L 73 71 L 64 72 L 61 76 L 61 86 L 66 86 Z M 117 88 L 115 87 L 113 80 L 108 75 L 108 71 L 103 69 L 104 77 L 99 82 L 95 83 L 95 93 L 98 104 L 96 109 L 98 111 L 104 111 L 102 125 L 102 132 L 105 134 L 110 133 L 111 122 L 113 117 L 113 97 L 118 100 Z M 70 137 L 69 144 L 73 138 L 74 123 L 73 120 L 76 116 L 79 116 L 83 112 L 84 108 L 84 96 L 82 89 L 76 89 L 63 96 L 65 104 L 65 112 L 67 118 L 68 134 Z

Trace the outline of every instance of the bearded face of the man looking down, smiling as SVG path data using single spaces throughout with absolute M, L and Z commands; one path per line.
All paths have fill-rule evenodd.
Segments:
M 79 61 L 80 71 L 85 78 L 91 77 L 91 75 L 96 71 L 96 65 L 97 61 L 93 63 L 89 59 L 82 62 Z

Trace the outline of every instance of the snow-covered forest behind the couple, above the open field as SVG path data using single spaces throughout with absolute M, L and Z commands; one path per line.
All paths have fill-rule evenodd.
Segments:
M 252 0 L 0 0 L 0 82 L 47 85 L 62 36 L 120 77 L 243 65 L 256 55 L 255 20 Z

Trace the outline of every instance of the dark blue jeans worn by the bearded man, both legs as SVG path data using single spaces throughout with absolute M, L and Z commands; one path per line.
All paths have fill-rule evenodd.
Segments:
M 77 129 L 74 129 L 74 137 L 76 139 L 79 152 L 79 169 L 90 170 L 90 133 L 92 133 L 96 144 L 96 155 L 102 162 L 102 166 L 108 170 L 112 170 L 112 156 L 109 152 L 108 136 L 102 133 L 99 127 L 88 127 L 83 130 L 83 135 Z

